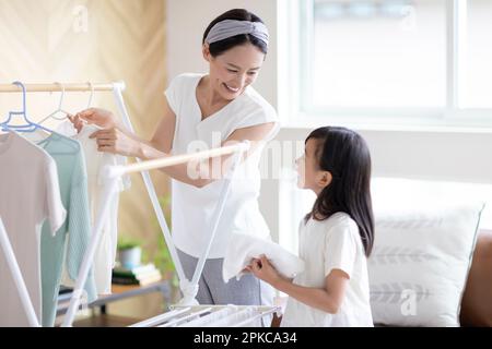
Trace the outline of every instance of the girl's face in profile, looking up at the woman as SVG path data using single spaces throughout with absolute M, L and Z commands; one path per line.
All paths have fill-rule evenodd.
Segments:
M 297 170 L 297 186 L 311 189 L 316 194 L 331 182 L 331 173 L 319 168 L 316 158 L 317 140 L 309 139 L 304 148 L 304 155 L 295 160 Z

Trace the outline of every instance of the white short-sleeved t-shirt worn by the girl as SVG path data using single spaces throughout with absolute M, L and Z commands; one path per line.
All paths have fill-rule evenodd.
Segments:
M 290 297 L 281 326 L 373 327 L 367 262 L 355 221 L 345 213 L 336 213 L 321 221 L 303 220 L 298 251 L 305 269 L 294 278 L 294 284 L 325 288 L 325 278 L 332 269 L 343 270 L 350 280 L 338 313 L 329 314 Z

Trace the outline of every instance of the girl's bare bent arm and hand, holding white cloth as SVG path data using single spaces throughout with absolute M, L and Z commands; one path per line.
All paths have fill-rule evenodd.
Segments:
M 336 314 L 343 301 L 349 275 L 340 269 L 332 269 L 325 278 L 324 288 L 304 287 L 293 284 L 279 275 L 266 256 L 254 260 L 250 270 L 256 277 L 270 284 L 279 291 L 297 301 L 324 312 Z

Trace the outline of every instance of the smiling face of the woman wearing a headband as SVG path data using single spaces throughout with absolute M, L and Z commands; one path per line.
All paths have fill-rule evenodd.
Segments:
M 250 43 L 235 46 L 216 57 L 210 55 L 206 44 L 203 57 L 210 63 L 212 88 L 225 100 L 236 98 L 255 82 L 265 60 L 265 53 Z

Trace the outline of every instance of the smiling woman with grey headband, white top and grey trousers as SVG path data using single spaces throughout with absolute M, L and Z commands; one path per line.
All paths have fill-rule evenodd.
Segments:
M 258 208 L 260 190 L 259 158 L 265 142 L 278 132 L 274 109 L 250 85 L 255 82 L 268 50 L 268 29 L 255 14 L 235 9 L 216 17 L 207 27 L 202 40 L 209 74 L 181 74 L 165 92 L 164 117 L 150 142 L 130 133 L 107 110 L 89 109 L 72 122 L 82 120 L 104 130 L 95 132 L 101 152 L 134 156 L 141 159 L 184 154 L 197 147 L 209 148 L 233 142 L 249 141 L 238 174 L 220 220 L 215 240 L 207 260 L 197 300 L 201 304 L 269 304 L 271 289 L 265 289 L 253 275 L 241 280 L 222 280 L 222 263 L 234 232 L 269 239 L 269 230 Z M 231 156 L 223 156 L 227 164 Z M 198 258 L 209 241 L 213 212 L 218 204 L 223 176 L 210 159 L 199 171 L 195 166 L 177 165 L 162 171 L 173 178 L 173 238 L 185 274 L 191 279 Z M 268 294 L 268 296 L 266 296 Z

